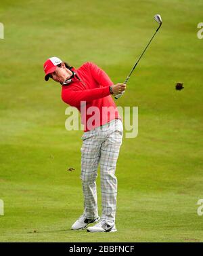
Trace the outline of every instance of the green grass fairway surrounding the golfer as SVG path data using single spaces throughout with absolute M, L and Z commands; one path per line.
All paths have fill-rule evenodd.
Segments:
M 203 22 L 200 0 L 1 0 L 0 216 L 2 242 L 203 242 Z M 118 106 L 139 107 L 116 169 L 114 234 L 70 230 L 83 213 L 82 131 L 65 129 L 60 85 L 43 62 L 92 61 L 114 83 L 163 24 Z M 184 89 L 175 90 L 175 83 Z M 73 172 L 67 168 L 73 167 Z M 99 214 L 101 193 L 97 179 Z

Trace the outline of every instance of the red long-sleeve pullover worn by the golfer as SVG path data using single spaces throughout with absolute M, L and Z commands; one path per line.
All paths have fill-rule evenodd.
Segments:
M 62 86 L 62 100 L 81 112 L 85 132 L 116 118 L 121 119 L 110 96 L 109 87 L 113 85 L 110 77 L 92 62 L 72 70 L 79 79 L 74 76 L 70 84 Z M 81 105 L 82 101 L 86 105 Z

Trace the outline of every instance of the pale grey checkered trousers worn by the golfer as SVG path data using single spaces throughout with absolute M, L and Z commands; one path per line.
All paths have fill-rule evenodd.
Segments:
M 122 122 L 112 120 L 82 136 L 81 179 L 83 183 L 84 214 L 88 219 L 98 216 L 97 212 L 97 168 L 100 162 L 101 219 L 114 222 L 116 215 L 117 179 L 116 162 L 122 144 Z

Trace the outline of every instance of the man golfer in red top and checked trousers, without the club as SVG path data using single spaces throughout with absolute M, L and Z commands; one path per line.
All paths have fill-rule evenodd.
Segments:
M 72 225 L 72 230 L 116 232 L 116 162 L 122 144 L 122 122 L 110 94 L 125 91 L 125 84 L 113 84 L 108 75 L 92 62 L 78 69 L 57 57 L 44 64 L 45 80 L 51 77 L 62 85 L 62 100 L 81 112 L 85 132 L 81 148 L 81 180 L 84 212 Z M 100 162 L 101 218 L 97 211 L 97 167 Z

